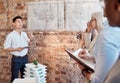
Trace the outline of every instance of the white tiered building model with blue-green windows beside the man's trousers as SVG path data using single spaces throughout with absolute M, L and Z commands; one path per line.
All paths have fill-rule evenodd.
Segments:
M 35 77 L 36 83 L 46 83 L 46 66 L 42 64 L 34 65 L 33 63 L 26 64 L 25 78 Z

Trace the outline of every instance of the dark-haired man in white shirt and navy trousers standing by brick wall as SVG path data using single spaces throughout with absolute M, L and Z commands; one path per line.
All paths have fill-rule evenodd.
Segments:
M 14 30 L 7 35 L 4 42 L 4 49 L 12 54 L 11 82 L 18 78 L 19 71 L 23 78 L 25 64 L 28 62 L 27 53 L 30 41 L 27 34 L 22 31 L 22 17 L 16 16 L 12 21 Z

